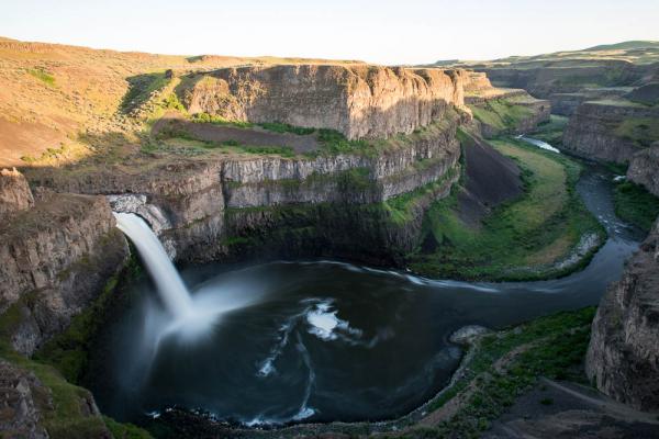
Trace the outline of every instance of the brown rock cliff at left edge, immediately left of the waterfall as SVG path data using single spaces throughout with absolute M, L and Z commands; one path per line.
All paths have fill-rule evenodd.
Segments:
M 0 224 L 0 313 L 15 317 L 9 338 L 26 354 L 65 328 L 127 255 L 102 196 L 44 191 Z

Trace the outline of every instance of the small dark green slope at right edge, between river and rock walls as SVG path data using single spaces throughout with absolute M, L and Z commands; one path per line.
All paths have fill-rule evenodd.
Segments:
M 615 214 L 623 221 L 649 232 L 659 216 L 659 198 L 630 181 L 617 183 L 613 193 Z

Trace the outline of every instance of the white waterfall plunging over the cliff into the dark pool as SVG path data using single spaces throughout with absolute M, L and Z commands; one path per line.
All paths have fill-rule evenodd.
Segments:
M 175 317 L 192 312 L 192 300 L 181 277 L 150 227 L 132 213 L 114 213 L 116 227 L 135 245 L 154 280 L 165 306 Z

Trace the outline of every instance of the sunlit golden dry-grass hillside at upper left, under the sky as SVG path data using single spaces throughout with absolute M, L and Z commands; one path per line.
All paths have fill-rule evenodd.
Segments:
M 122 147 L 109 139 L 116 137 L 112 133 L 130 137 L 137 128 L 138 124 L 120 111 L 131 77 L 167 69 L 182 72 L 299 63 L 357 61 L 154 55 L 0 37 L 0 167 L 36 166 L 48 148 L 66 146 L 79 151 L 89 147 L 90 153 L 102 154 Z M 88 142 L 91 137 L 97 139 L 93 145 Z M 33 160 L 22 160 L 25 156 Z

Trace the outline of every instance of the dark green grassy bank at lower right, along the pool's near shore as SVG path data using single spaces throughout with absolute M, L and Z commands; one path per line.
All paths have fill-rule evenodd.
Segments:
M 447 421 L 432 428 L 414 428 L 407 438 L 477 438 L 500 417 L 515 399 L 537 383 L 539 376 L 585 382 L 582 363 L 590 341 L 590 327 L 595 308 L 563 312 L 540 317 L 484 336 L 474 347 L 465 374 L 428 406 L 428 412 L 443 407 L 456 395 L 465 398 L 458 412 Z M 514 349 L 500 371 L 493 364 Z M 476 383 L 474 391 L 468 389 Z M 543 404 L 551 404 L 546 401 Z

